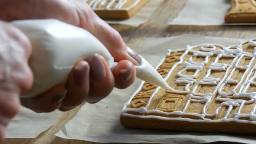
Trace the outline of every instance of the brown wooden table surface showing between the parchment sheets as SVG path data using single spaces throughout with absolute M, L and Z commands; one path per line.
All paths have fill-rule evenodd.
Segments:
M 135 50 L 139 48 L 143 39 L 150 37 L 171 37 L 182 34 L 244 39 L 256 37 L 255 26 L 168 26 L 168 22 L 179 14 L 186 2 L 187 0 L 164 0 L 150 17 L 149 21 L 141 24 L 139 27 L 121 24 L 112 24 L 111 26 L 117 29 L 125 43 Z M 35 139 L 5 139 L 4 144 L 91 144 L 93 142 L 61 139 L 53 136 L 75 115 L 80 107 L 63 113 L 55 125 Z M 226 142 L 222 143 L 227 144 Z

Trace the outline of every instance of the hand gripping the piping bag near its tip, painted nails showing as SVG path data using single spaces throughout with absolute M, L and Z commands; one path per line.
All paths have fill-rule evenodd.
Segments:
M 118 61 L 113 71 L 99 55 L 78 61 L 65 85 L 56 85 L 35 98 L 21 99 L 25 107 L 36 112 L 67 111 L 83 101 L 100 101 L 114 86 L 127 88 L 134 82 L 134 65 L 139 65 L 140 57 L 127 48 L 119 33 L 101 20 L 84 0 L 3 0 L 0 8 L 0 19 L 6 21 L 59 19 L 82 27 L 96 36 Z

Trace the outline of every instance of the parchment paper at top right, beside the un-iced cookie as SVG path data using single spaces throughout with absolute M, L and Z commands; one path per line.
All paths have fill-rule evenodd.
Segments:
M 254 25 L 252 23 L 226 24 L 224 16 L 231 8 L 230 0 L 188 0 L 170 25 Z

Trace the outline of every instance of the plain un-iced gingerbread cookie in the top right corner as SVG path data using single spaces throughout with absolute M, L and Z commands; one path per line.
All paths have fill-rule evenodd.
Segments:
M 226 23 L 255 23 L 256 0 L 232 0 L 232 8 L 225 16 Z

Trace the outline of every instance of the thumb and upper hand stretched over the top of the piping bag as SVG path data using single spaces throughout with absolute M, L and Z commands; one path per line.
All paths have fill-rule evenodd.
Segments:
M 17 3 L 19 6 L 17 6 Z M 4 16 L 8 15 L 13 19 L 59 19 L 82 27 L 91 32 L 105 45 L 115 58 L 115 61 L 126 59 L 132 61 L 134 65 L 139 65 L 138 61 L 128 54 L 128 48 L 120 34 L 100 19 L 83 0 L 39 0 L 27 1 L 27 3 L 21 3 L 17 0 L 16 3 L 6 3 L 3 8 Z M 42 12 L 45 8 L 48 10 L 47 13 Z

